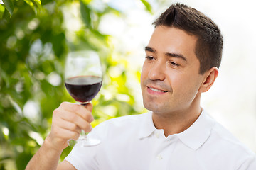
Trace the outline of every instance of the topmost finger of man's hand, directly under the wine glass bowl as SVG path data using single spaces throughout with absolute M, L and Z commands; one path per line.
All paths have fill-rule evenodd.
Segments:
M 66 111 L 76 113 L 81 118 L 83 118 L 83 119 L 87 120 L 89 123 L 91 123 L 94 120 L 94 118 L 92 116 L 91 111 L 87 110 L 87 108 L 92 110 L 92 104 L 88 103 L 87 105 L 88 106 L 82 106 L 80 104 L 63 102 L 60 104 L 60 107 Z

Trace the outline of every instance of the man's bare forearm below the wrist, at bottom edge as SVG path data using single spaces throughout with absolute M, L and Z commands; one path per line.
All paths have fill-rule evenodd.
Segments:
M 50 141 L 48 141 L 48 137 L 46 137 L 46 140 L 43 142 L 41 148 L 38 149 L 38 152 L 36 152 L 30 162 L 28 162 L 26 170 L 57 169 L 61 152 L 62 150 L 54 149 L 50 144 Z

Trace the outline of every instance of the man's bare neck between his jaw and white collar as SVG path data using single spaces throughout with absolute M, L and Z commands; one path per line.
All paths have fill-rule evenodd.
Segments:
M 170 113 L 155 113 L 152 118 L 157 129 L 164 129 L 164 135 L 177 134 L 188 129 L 201 114 L 202 108 L 200 102 L 192 104 L 190 107 L 182 111 L 174 111 Z

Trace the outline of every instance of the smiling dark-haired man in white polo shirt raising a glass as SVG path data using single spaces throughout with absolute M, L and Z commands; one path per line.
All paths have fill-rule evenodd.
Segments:
M 154 22 L 141 87 L 149 113 L 107 120 L 92 130 L 92 105 L 62 103 L 52 130 L 27 169 L 256 169 L 255 154 L 200 106 L 218 77 L 223 38 L 218 26 L 183 4 Z M 101 140 L 75 146 L 58 164 L 68 140 L 81 130 Z

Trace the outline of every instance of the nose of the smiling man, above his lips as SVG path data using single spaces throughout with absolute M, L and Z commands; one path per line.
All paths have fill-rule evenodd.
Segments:
M 151 69 L 149 70 L 149 74 L 148 74 L 149 79 L 164 81 L 165 68 L 166 68 L 166 66 L 165 66 L 164 62 L 161 62 L 160 60 L 154 62 Z

